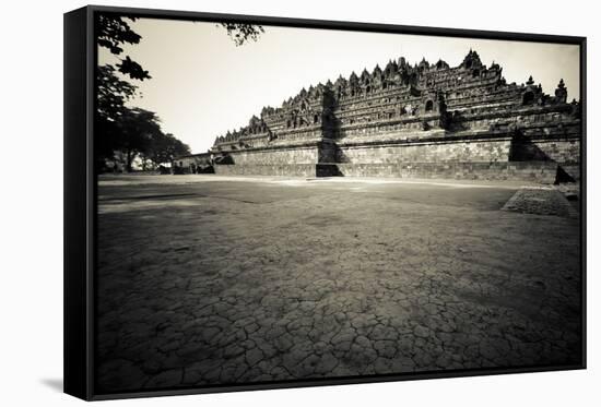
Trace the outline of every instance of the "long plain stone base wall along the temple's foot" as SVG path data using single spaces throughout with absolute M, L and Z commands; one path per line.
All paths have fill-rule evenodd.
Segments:
M 295 148 L 232 152 L 233 164 L 215 165 L 215 173 L 451 178 L 553 183 L 557 163 L 569 164 L 579 156 L 579 142 L 575 140 L 516 143 L 515 137 L 507 135 L 472 135 L 464 140 L 440 137 L 427 142 L 421 137 L 410 140 L 403 143 L 360 142 L 349 145 L 327 142 Z M 578 165 L 565 168 L 574 179 L 579 178 L 574 173 L 578 172 Z

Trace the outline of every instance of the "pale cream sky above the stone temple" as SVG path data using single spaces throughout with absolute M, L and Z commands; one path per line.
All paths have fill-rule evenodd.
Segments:
M 263 106 L 279 107 L 302 87 L 332 82 L 352 71 L 369 72 L 379 63 L 405 57 L 415 63 L 443 59 L 451 67 L 470 48 L 486 65 L 497 62 L 508 83 L 525 83 L 529 75 L 554 94 L 559 79 L 568 100 L 579 99 L 579 50 L 575 45 L 520 43 L 475 38 L 343 32 L 266 26 L 257 43 L 236 47 L 214 23 L 140 19 L 131 23 L 140 44 L 125 46 L 152 76 L 131 81 L 141 96 L 129 105 L 155 111 L 162 129 L 203 153 L 215 136 L 248 124 Z M 101 64 L 116 62 L 104 48 Z

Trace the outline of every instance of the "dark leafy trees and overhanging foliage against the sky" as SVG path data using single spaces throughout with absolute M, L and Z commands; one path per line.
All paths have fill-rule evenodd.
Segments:
M 106 48 L 119 62 L 97 67 L 97 109 L 95 116 L 95 148 L 99 171 L 111 170 L 119 163 L 127 171 L 138 158 L 143 169 L 155 169 L 180 155 L 190 154 L 190 147 L 175 135 L 164 133 L 161 120 L 153 111 L 126 106 L 137 95 L 138 86 L 123 80 L 150 80 L 144 70 L 129 56 L 121 57 L 123 45 L 139 44 L 142 38 L 128 24 L 134 16 L 99 14 L 96 22 L 97 45 Z M 223 26 L 236 46 L 257 40 L 263 28 L 250 24 Z

